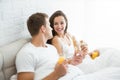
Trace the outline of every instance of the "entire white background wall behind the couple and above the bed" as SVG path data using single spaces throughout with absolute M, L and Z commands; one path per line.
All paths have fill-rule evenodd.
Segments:
M 119 0 L 0 0 L 0 46 L 28 34 L 26 20 L 32 13 L 50 16 L 60 9 L 68 17 L 68 31 L 85 40 L 90 50 L 119 49 L 119 4 Z

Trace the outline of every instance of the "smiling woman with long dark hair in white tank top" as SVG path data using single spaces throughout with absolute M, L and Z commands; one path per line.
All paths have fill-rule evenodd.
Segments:
M 59 55 L 64 55 L 67 59 L 70 59 L 75 55 L 74 43 L 75 38 L 67 32 L 68 20 L 66 15 L 58 10 L 52 14 L 49 19 L 50 26 L 53 29 L 53 38 L 48 41 L 54 45 Z M 87 53 L 87 47 L 82 47 L 84 54 Z

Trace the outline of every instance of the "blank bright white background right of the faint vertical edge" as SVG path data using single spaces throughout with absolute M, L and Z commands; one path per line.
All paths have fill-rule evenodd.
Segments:
M 91 48 L 120 49 L 120 1 L 85 0 L 84 38 Z M 86 29 L 86 31 L 85 31 Z

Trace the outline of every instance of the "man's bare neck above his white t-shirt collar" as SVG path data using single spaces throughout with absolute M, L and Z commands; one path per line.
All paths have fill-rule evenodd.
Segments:
M 36 47 L 46 47 L 46 39 L 42 36 L 33 36 L 31 43 Z

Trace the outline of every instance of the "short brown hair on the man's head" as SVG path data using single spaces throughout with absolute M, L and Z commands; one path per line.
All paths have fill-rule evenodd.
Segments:
M 46 18 L 48 15 L 45 13 L 35 13 L 29 17 L 27 27 L 31 36 L 37 35 L 42 25 L 46 26 Z

